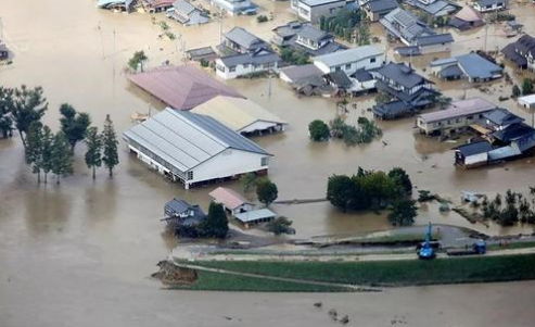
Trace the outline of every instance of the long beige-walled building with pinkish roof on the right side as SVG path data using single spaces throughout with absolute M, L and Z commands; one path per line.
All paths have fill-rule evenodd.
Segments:
M 483 98 L 454 101 L 446 110 L 418 115 L 416 126 L 425 135 L 451 135 L 467 130 L 495 109 L 494 103 Z

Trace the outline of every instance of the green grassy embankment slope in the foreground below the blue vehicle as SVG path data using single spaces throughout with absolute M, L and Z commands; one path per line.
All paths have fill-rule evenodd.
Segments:
M 384 262 L 243 262 L 200 261 L 195 265 L 257 275 L 361 286 L 420 286 L 535 279 L 535 255 L 473 256 L 434 261 Z M 190 289 L 230 291 L 342 291 L 200 272 Z

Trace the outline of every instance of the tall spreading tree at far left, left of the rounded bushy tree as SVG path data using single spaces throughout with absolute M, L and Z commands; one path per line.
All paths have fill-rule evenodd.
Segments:
M 21 135 L 24 148 L 26 148 L 26 133 L 29 125 L 40 122 L 48 109 L 47 99 L 42 96 L 42 88 L 27 88 L 25 85 L 14 90 L 14 101 L 11 111 L 15 128 Z

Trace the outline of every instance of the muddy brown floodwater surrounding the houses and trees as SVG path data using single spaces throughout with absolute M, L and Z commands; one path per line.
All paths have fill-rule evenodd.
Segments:
M 266 13 L 273 12 L 272 22 L 257 24 L 255 17 L 227 17 L 222 24 L 190 28 L 169 23 L 175 33 L 180 33 L 183 42 L 179 42 L 158 39 L 160 26 L 149 14 L 111 13 L 97 10 L 94 2 L 0 1 L 0 38 L 15 54 L 12 65 L 0 66 L 0 85 L 42 86 L 50 103 L 44 123 L 53 129 L 58 128 L 58 108 L 63 102 L 89 112 L 98 126 L 111 114 L 119 134 L 131 126 L 132 112 L 161 110 L 161 103 L 125 78 L 124 67 L 136 50 L 148 53 L 148 66 L 165 61 L 179 63 L 183 48 L 215 46 L 221 26 L 224 30 L 246 26 L 269 39 L 271 28 L 290 18 L 288 2 L 260 0 L 257 3 Z M 521 9 L 514 12 L 525 18 L 530 15 Z M 165 18 L 156 15 L 160 20 Z M 531 21 L 522 22 L 535 30 Z M 374 25 L 372 29 L 380 27 Z M 509 41 L 495 34 L 491 27 L 488 49 Z M 459 41 L 455 53 L 481 47 L 483 37 L 484 29 L 456 35 Z M 385 49 L 384 43 L 379 46 Z M 422 68 L 431 59 L 413 59 L 412 63 Z M 268 80 L 229 84 L 290 123 L 284 134 L 256 139 L 276 155 L 270 177 L 279 186 L 280 199 L 323 197 L 328 176 L 351 174 L 359 165 L 369 169 L 402 166 L 418 188 L 455 200 L 466 189 L 493 193 L 525 188 L 534 181 L 535 164 L 531 160 L 479 171 L 455 169 L 448 151 L 455 144 L 415 136 L 411 120 L 379 123 L 386 146 L 381 141 L 356 148 L 337 141 L 313 143 L 307 138 L 307 124 L 314 118 L 332 118 L 333 100 L 297 100 L 277 79 L 271 81 L 270 96 Z M 463 93 L 459 84 L 440 86 L 454 98 Z M 492 88 L 492 95 L 474 88 L 466 92 L 497 102 L 499 95 L 510 90 L 510 86 L 500 88 L 499 84 Z M 370 116 L 366 109 L 372 102 L 371 98 L 359 99 L 349 122 L 356 122 L 360 114 Z M 517 111 L 512 102 L 502 104 Z M 163 204 L 178 197 L 206 206 L 212 188 L 184 191 L 129 158 L 124 147 L 122 150 L 122 164 L 114 179 L 102 169 L 92 181 L 79 146 L 72 177 L 60 187 L 38 186 L 24 164 L 18 138 L 0 140 L 0 326 L 326 326 L 327 314 L 314 310 L 315 301 L 345 311 L 352 320 L 366 326 L 388 326 L 392 320 L 409 326 L 530 326 L 533 322 L 532 311 L 518 305 L 533 302 L 534 294 L 528 292 L 533 282 L 408 288 L 381 294 L 160 290 L 147 276 L 176 246 L 163 234 L 164 226 L 157 219 Z M 229 186 L 240 188 L 237 183 Z M 273 209 L 294 221 L 300 238 L 390 228 L 384 216 L 341 214 L 328 203 Z M 522 226 L 473 226 L 454 214 L 441 215 L 434 206 L 422 210 L 418 223 L 430 219 L 489 234 L 533 231 Z

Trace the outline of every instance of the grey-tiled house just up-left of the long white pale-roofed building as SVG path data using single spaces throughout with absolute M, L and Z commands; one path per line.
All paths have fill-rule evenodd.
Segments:
M 290 48 L 308 55 L 321 55 L 347 49 L 336 42 L 334 36 L 314 27 L 310 23 L 290 22 L 276 27 L 271 42 L 279 48 Z

